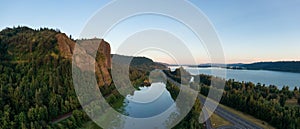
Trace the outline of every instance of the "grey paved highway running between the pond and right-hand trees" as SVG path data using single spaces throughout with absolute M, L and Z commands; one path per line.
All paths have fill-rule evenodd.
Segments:
M 172 80 L 171 78 L 167 77 L 168 81 L 178 87 L 181 86 L 181 84 L 179 84 L 178 82 Z M 200 101 L 202 104 L 205 103 L 205 101 L 212 101 L 212 100 L 209 100 L 209 99 L 206 99 L 204 96 L 202 95 L 198 95 Z M 204 116 L 208 116 L 208 112 L 207 108 L 203 107 L 203 113 L 204 113 Z M 232 126 L 221 126 L 221 127 L 218 127 L 218 129 L 263 129 L 261 128 L 260 126 L 254 124 L 254 123 L 251 123 L 229 111 L 227 111 L 226 109 L 220 107 L 220 106 L 217 106 L 216 110 L 214 111 L 215 114 L 219 115 L 220 117 L 226 119 L 227 121 L 231 122 L 233 125 Z M 213 127 L 211 126 L 211 121 L 208 119 L 206 122 L 205 122 L 205 125 L 206 125 L 206 128 L 207 129 L 213 129 Z

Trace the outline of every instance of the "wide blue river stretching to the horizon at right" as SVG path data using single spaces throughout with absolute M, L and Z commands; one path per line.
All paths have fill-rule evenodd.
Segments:
M 178 67 L 170 67 L 171 70 L 175 70 L 176 68 Z M 300 86 L 300 73 L 277 72 L 268 70 L 233 70 L 224 68 L 184 67 L 184 69 L 193 75 L 196 75 L 198 73 L 212 75 L 212 70 L 215 70 L 216 73 L 218 73 L 218 71 L 226 71 L 226 79 L 235 79 L 237 81 L 261 83 L 265 85 L 275 85 L 279 89 L 281 89 L 283 86 L 289 86 L 290 90 L 294 90 L 295 86 Z M 223 76 L 222 78 L 225 77 Z

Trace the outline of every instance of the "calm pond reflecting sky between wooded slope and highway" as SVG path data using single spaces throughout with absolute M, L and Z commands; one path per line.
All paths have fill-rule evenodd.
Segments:
M 150 87 L 140 87 L 124 99 L 125 117 L 112 121 L 113 128 L 120 129 L 167 129 L 171 114 L 178 114 L 176 103 L 172 99 L 165 83 L 152 83 Z M 172 117 L 171 117 L 172 118 Z

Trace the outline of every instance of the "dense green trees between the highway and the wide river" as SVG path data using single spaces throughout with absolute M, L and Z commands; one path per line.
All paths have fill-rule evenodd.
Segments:
M 207 96 L 209 90 L 217 90 L 209 86 L 214 77 L 199 76 L 201 78 L 201 94 Z M 214 78 L 214 80 L 216 79 L 218 78 Z M 279 90 L 273 85 L 265 86 L 231 79 L 226 81 L 221 103 L 267 121 L 276 128 L 298 129 L 300 127 L 300 106 L 289 106 L 285 103 L 287 99 L 298 98 L 299 100 L 299 97 L 298 88 L 291 91 L 286 86 Z

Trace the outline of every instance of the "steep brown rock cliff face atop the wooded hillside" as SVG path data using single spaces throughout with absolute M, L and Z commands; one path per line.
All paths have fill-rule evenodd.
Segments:
M 65 34 L 56 35 L 61 56 L 71 59 L 74 51 L 75 42 L 69 39 Z M 100 43 L 99 47 L 97 45 Z M 81 40 L 76 44 L 79 53 L 84 53 L 85 57 L 73 59 L 81 70 L 91 70 L 88 63 L 94 62 L 96 55 L 95 73 L 99 86 L 110 85 L 112 82 L 109 70 L 111 68 L 110 45 L 103 39 Z M 87 55 L 87 56 L 86 56 Z

